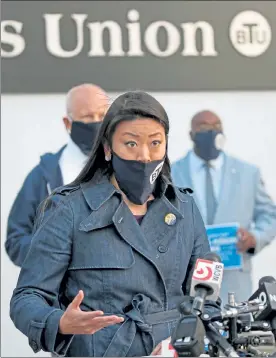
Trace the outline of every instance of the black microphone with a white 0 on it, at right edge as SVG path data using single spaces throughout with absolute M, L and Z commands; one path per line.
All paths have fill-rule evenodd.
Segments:
M 265 276 L 259 280 L 259 288 L 249 298 L 249 301 L 258 299 L 264 309 L 253 313 L 254 320 L 268 321 L 276 337 L 276 280 L 272 276 Z

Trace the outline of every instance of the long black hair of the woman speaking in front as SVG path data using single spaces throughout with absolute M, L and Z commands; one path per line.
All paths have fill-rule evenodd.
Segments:
M 75 186 L 90 181 L 98 171 L 102 174 L 111 173 L 112 164 L 111 161 L 107 162 L 105 160 L 104 143 L 107 142 L 110 148 L 112 148 L 112 136 L 116 126 L 122 121 L 137 118 L 152 118 L 159 122 L 165 129 L 168 146 L 169 119 L 163 106 L 146 92 L 126 92 L 117 97 L 109 107 L 85 167 L 69 185 Z M 167 148 L 164 165 L 160 174 L 171 181 L 171 168 Z

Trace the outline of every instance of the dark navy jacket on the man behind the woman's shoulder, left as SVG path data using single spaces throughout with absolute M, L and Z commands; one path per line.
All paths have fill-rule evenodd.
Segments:
M 36 211 L 51 191 L 63 185 L 58 153 L 46 153 L 28 174 L 8 218 L 5 247 L 12 262 L 22 266 L 29 251 Z

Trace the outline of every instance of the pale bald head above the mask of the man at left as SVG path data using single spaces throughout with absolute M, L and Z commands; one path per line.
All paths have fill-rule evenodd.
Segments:
M 66 114 L 73 121 L 99 122 L 104 117 L 108 104 L 108 96 L 102 88 L 82 84 L 67 93 Z

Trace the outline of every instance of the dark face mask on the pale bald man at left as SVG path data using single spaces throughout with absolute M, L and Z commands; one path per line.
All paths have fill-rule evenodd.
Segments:
M 72 122 L 71 138 L 85 155 L 91 152 L 101 125 L 102 122 Z

